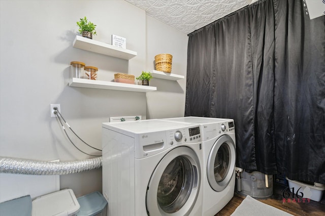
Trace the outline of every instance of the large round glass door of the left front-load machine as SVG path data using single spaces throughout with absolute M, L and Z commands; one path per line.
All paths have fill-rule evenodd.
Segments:
M 200 191 L 197 154 L 182 146 L 168 152 L 153 171 L 146 195 L 148 215 L 188 215 Z

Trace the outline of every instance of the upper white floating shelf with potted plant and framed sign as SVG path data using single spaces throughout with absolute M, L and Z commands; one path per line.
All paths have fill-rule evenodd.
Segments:
M 90 51 L 93 53 L 100 53 L 107 56 L 113 56 L 120 59 L 129 60 L 137 56 L 137 52 L 126 50 L 120 47 L 115 47 L 104 42 L 89 39 L 76 35 L 73 41 L 73 47 L 81 50 Z

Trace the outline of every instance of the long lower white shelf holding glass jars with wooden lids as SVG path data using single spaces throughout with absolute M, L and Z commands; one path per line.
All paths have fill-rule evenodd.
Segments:
M 156 87 L 150 87 L 146 85 L 136 85 L 136 84 L 81 79 L 81 78 L 70 79 L 69 85 L 71 87 L 108 89 L 108 90 L 130 91 L 130 92 L 153 92 L 157 90 Z

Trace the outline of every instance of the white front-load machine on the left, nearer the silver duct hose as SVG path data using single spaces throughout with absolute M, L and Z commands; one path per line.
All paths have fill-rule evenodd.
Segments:
M 195 123 L 103 123 L 107 215 L 201 215 L 201 140 Z

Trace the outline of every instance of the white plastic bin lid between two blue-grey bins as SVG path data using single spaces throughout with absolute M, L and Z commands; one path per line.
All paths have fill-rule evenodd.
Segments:
M 32 201 L 32 216 L 75 216 L 79 202 L 71 189 L 64 189 Z

